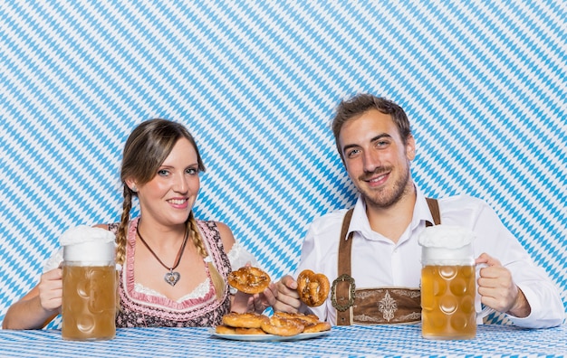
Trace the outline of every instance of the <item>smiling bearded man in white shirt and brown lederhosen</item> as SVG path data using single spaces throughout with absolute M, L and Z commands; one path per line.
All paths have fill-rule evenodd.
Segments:
M 410 173 L 415 140 L 402 108 L 360 94 L 341 102 L 332 131 L 360 196 L 351 212 L 312 222 L 297 270 L 326 275 L 332 292 L 322 306 L 307 307 L 297 282 L 285 276 L 266 295 L 274 310 L 311 311 L 332 325 L 418 322 L 418 236 L 426 225 L 442 223 L 476 235 L 477 312 L 482 303 L 515 325 L 562 324 L 557 288 L 485 202 L 466 195 L 436 201 L 420 192 Z

